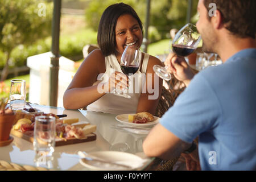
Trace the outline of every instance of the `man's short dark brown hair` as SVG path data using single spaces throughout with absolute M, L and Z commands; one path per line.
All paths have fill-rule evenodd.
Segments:
M 210 3 L 215 3 L 220 11 L 225 27 L 233 35 L 240 38 L 255 39 L 256 33 L 256 1 L 255 0 L 204 0 L 206 9 Z M 210 16 L 208 16 L 210 19 Z

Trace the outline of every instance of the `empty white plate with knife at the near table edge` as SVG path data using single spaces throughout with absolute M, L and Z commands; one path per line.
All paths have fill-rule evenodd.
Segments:
M 110 162 L 119 164 L 125 164 L 131 167 L 131 170 L 141 168 L 148 160 L 144 160 L 137 155 L 119 152 L 119 151 L 98 151 L 91 152 L 90 155 L 96 156 L 101 159 L 106 159 Z M 114 164 L 102 164 L 93 160 L 80 159 L 80 163 L 86 168 L 93 170 L 104 170 L 104 171 L 123 171 L 124 169 Z

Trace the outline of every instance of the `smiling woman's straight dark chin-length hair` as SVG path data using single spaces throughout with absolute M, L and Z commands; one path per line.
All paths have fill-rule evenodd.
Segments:
M 139 19 L 139 16 L 131 6 L 126 5 L 125 3 L 110 5 L 101 15 L 100 24 L 98 26 L 98 46 L 100 46 L 104 56 L 117 53 L 117 50 L 115 49 L 115 26 L 117 25 L 119 16 L 124 14 L 129 14 L 137 20 L 143 35 L 141 19 Z

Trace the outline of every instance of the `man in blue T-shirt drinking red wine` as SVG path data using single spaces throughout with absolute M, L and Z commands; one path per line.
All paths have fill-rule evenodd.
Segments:
M 185 151 L 192 169 L 256 169 L 255 9 L 255 0 L 199 0 L 203 50 L 218 53 L 224 64 L 193 77 L 184 59 L 168 56 L 170 72 L 187 88 L 144 140 L 146 155 L 172 159 Z M 200 166 L 191 144 L 198 135 Z

